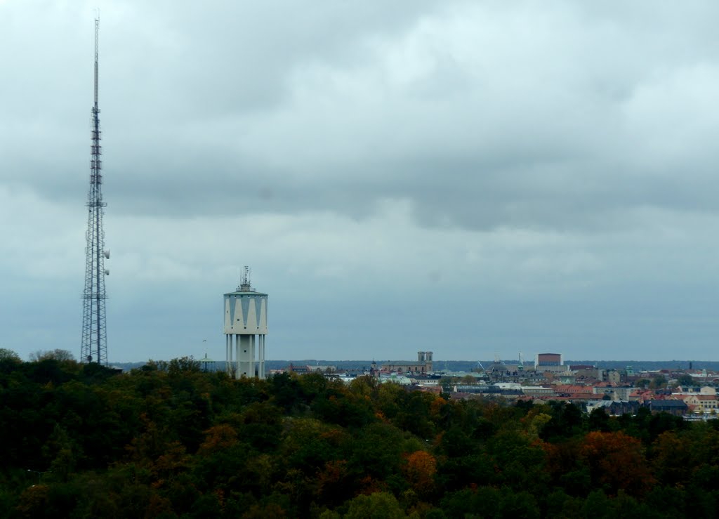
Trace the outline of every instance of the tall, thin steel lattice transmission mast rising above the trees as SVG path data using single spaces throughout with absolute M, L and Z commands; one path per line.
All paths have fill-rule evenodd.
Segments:
M 102 227 L 104 208 L 102 201 L 102 150 L 100 147 L 100 109 L 97 104 L 98 34 L 99 18 L 95 19 L 95 104 L 92 107 L 90 147 L 90 190 L 88 190 L 88 230 L 85 264 L 85 290 L 83 292 L 83 341 L 81 362 L 107 364 L 107 331 L 105 326 L 105 233 Z

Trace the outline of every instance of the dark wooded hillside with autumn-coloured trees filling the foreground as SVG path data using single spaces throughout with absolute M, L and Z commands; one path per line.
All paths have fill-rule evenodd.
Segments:
M 713 516 L 719 421 L 0 356 L 0 515 Z

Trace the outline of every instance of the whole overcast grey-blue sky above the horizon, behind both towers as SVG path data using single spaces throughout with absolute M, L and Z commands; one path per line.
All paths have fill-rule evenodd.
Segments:
M 0 0 L 0 347 L 717 360 L 719 3 Z M 203 343 L 203 340 L 206 342 Z

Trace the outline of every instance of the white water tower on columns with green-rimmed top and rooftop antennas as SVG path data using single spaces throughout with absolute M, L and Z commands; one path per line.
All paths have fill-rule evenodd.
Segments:
M 224 313 L 227 373 L 265 378 L 267 294 L 250 286 L 249 267 L 244 267 L 237 290 L 224 295 Z

